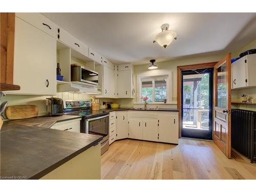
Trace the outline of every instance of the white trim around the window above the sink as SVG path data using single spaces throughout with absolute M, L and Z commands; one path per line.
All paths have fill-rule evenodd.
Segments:
M 143 103 L 140 100 L 141 97 L 141 79 L 143 78 L 154 78 L 159 76 L 168 76 L 168 80 L 166 82 L 167 88 L 167 104 L 172 102 L 172 71 L 167 70 L 154 70 L 151 71 L 150 74 L 148 71 L 137 75 L 137 103 Z M 164 103 L 164 102 L 149 102 L 151 104 L 154 103 Z

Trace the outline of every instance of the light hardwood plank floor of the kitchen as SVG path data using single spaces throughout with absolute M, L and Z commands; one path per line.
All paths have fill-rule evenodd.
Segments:
M 179 145 L 119 140 L 101 156 L 102 179 L 256 179 L 256 163 L 233 152 L 227 159 L 210 141 Z

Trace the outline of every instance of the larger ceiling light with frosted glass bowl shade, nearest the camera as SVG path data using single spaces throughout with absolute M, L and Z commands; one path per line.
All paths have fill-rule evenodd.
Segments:
M 177 40 L 177 33 L 174 31 L 168 31 L 169 24 L 163 24 L 161 26 L 162 32 L 158 33 L 155 37 L 154 42 L 158 42 L 161 47 L 166 48 L 173 39 Z

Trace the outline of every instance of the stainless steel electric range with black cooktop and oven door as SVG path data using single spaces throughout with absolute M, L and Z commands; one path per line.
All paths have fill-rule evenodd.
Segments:
M 101 155 L 109 150 L 109 113 L 91 111 L 90 100 L 63 101 L 63 114 L 81 116 L 80 133 L 100 135 Z

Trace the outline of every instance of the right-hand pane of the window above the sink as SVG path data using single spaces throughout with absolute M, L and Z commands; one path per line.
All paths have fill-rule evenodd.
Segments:
M 167 96 L 166 80 L 156 79 L 155 80 L 155 102 L 163 102 Z

